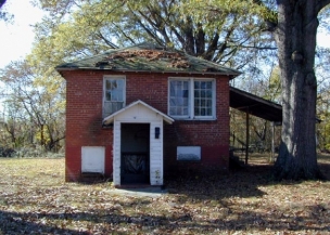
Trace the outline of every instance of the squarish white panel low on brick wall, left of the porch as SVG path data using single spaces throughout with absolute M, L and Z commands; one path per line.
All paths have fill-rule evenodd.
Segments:
M 104 173 L 105 148 L 98 146 L 81 147 L 81 171 Z

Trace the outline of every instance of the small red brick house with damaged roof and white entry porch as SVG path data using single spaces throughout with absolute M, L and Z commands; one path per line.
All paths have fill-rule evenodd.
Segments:
M 226 171 L 229 80 L 240 73 L 150 43 L 59 65 L 66 80 L 65 180 L 97 172 L 162 185 Z

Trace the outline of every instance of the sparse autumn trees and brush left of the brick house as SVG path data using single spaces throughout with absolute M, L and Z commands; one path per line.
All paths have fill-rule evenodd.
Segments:
M 41 82 L 27 61 L 7 66 L 0 80 L 5 84 L 7 93 L 1 132 L 7 142 L 2 144 L 15 148 L 30 144 L 48 151 L 60 148 L 64 139 L 65 110 L 61 87 L 51 80 Z

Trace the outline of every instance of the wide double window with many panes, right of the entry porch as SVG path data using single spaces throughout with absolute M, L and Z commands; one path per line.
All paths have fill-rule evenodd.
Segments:
M 168 115 L 178 119 L 215 119 L 215 80 L 170 78 Z

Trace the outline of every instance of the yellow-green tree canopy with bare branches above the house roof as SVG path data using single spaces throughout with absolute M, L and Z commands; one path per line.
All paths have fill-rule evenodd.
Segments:
M 259 14 L 265 10 L 251 11 L 245 1 L 40 0 L 39 4 L 50 16 L 36 27 L 36 56 L 52 54 L 51 61 L 153 41 L 248 69 L 261 50 L 276 49 L 261 24 Z

